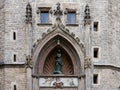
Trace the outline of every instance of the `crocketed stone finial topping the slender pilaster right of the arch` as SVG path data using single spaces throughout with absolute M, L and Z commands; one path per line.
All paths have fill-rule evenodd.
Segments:
M 90 24 L 91 23 L 91 17 L 90 17 L 90 8 L 88 4 L 85 6 L 85 16 L 84 16 L 84 24 Z

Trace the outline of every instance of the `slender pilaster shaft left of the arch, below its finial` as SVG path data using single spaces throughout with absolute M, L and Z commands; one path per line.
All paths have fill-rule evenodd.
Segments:
M 32 34 L 31 24 L 26 25 L 26 71 L 27 71 L 27 90 L 32 90 Z

